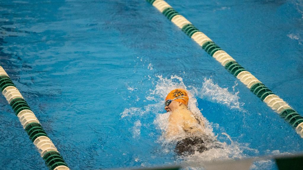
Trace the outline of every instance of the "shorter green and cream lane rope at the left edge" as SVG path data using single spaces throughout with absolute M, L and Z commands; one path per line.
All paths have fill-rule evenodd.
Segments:
M 37 117 L 26 103 L 25 99 L 16 88 L 11 78 L 0 66 L 0 88 L 8 104 L 19 118 L 29 139 L 34 143 L 40 156 L 50 170 L 69 170 L 51 139 L 48 138 L 45 130 Z

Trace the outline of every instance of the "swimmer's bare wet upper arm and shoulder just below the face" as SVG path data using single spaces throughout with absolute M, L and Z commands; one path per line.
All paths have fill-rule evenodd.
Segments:
M 179 113 L 172 112 L 168 117 L 168 128 L 166 131 L 166 137 L 176 136 L 182 132 L 184 120 Z

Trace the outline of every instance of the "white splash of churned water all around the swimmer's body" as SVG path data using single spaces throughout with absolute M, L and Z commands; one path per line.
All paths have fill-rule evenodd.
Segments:
M 138 107 L 131 107 L 126 108 L 121 113 L 121 118 L 125 117 L 135 117 L 134 125 L 133 125 L 133 134 L 134 137 L 137 138 L 138 135 L 140 135 L 138 128 L 141 127 L 140 119 L 144 117 L 146 114 L 155 114 L 155 119 L 153 120 L 153 124 L 155 125 L 155 128 L 160 131 L 160 136 L 158 137 L 158 140 L 155 142 L 158 142 L 160 145 L 162 145 L 162 151 L 164 154 L 168 154 L 172 152 L 172 150 L 175 147 L 175 143 L 172 142 L 171 139 L 165 138 L 165 132 L 168 126 L 168 117 L 170 115 L 170 112 L 165 113 L 165 110 L 163 108 L 164 99 L 166 97 L 166 94 L 168 94 L 171 90 L 176 88 L 182 88 L 188 91 L 189 96 L 189 102 L 188 102 L 188 109 L 191 110 L 191 112 L 198 117 L 202 122 L 205 124 L 205 134 L 213 141 L 215 141 L 216 144 L 220 145 L 219 148 L 211 148 L 208 151 L 199 153 L 195 152 L 195 154 L 190 156 L 179 156 L 176 160 L 177 162 L 195 162 L 198 160 L 205 160 L 205 161 L 213 161 L 217 159 L 241 159 L 245 157 L 245 154 L 243 154 L 244 150 L 252 150 L 253 152 L 258 152 L 258 150 L 251 149 L 248 147 L 247 144 L 234 142 L 231 140 L 231 137 L 226 134 L 222 133 L 223 137 L 225 135 L 225 141 L 230 140 L 231 143 L 226 142 L 218 142 L 217 136 L 213 133 L 213 127 L 212 123 L 209 123 L 207 119 L 202 115 L 201 110 L 198 108 L 197 99 L 198 97 L 204 97 L 208 100 L 211 100 L 212 102 L 221 103 L 224 105 L 229 106 L 230 108 L 238 108 L 240 109 L 240 103 L 239 103 L 239 97 L 237 96 L 238 92 L 236 93 L 230 93 L 228 92 L 227 88 L 221 88 L 217 84 L 214 84 L 211 79 L 204 79 L 204 83 L 202 84 L 202 89 L 199 90 L 199 88 L 193 87 L 193 86 L 185 86 L 183 79 L 179 76 L 171 76 L 169 78 L 164 78 L 162 76 L 156 76 L 158 78 L 158 81 L 156 82 L 155 89 L 150 90 L 149 95 L 147 95 L 147 99 L 154 100 L 154 101 L 160 101 L 155 104 L 149 104 L 147 106 L 144 106 L 143 108 Z M 237 84 L 235 84 L 236 86 Z M 235 87 L 233 87 L 235 88 Z M 214 95 L 214 96 L 212 96 Z M 186 134 L 180 134 L 181 138 L 185 138 Z M 222 136 L 220 137 L 222 138 Z M 209 145 L 209 144 L 207 144 Z

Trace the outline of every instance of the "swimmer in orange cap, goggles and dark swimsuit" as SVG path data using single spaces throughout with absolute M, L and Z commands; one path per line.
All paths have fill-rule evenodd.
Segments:
M 188 110 L 188 94 L 183 89 L 175 89 L 168 93 L 165 99 L 166 112 L 171 112 L 168 117 L 166 138 L 185 134 L 185 138 L 178 141 L 175 152 L 178 155 L 191 155 L 195 151 L 208 150 L 205 147 L 205 125 Z

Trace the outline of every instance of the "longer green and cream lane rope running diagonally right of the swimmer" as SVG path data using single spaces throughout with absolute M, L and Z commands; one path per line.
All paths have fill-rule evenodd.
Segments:
M 244 83 L 256 96 L 275 110 L 281 118 L 289 123 L 296 132 L 303 137 L 303 117 L 291 106 L 274 94 L 268 87 L 259 81 L 250 72 L 245 70 L 235 59 L 223 51 L 214 41 L 199 31 L 191 22 L 180 15 L 174 8 L 163 0 L 147 0 L 157 8 L 171 22 L 177 25 L 185 34 L 198 43 L 203 50 L 214 57 L 228 72 Z M 8 82 L 9 83 L 9 82 Z

